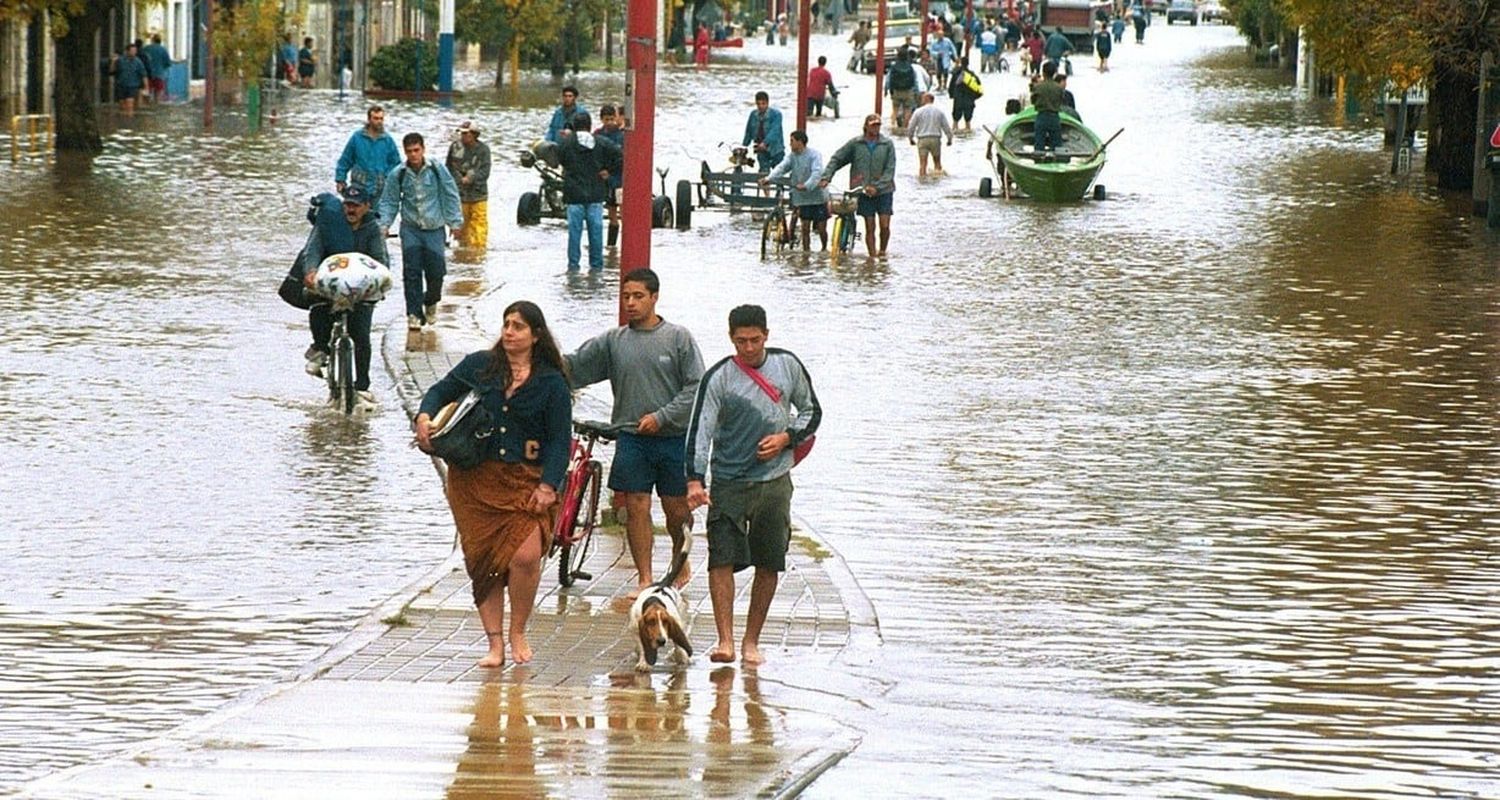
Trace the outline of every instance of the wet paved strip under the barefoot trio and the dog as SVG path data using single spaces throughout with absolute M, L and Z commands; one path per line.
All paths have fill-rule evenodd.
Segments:
M 398 320 L 386 330 L 408 416 L 464 354 L 490 344 L 471 309 L 444 303 L 432 329 Z M 585 395 L 578 414 L 606 419 L 608 405 Z M 711 665 L 708 548 L 694 545 L 686 669 L 634 671 L 624 599 L 634 569 L 618 530 L 596 533 L 592 581 L 564 590 L 555 563 L 543 564 L 532 663 L 474 666 L 484 633 L 454 548 L 292 678 L 21 795 L 795 795 L 860 743 L 850 719 L 879 689 L 838 666 L 874 657 L 874 609 L 843 560 L 798 524 L 762 635 L 768 663 Z M 666 549 L 656 548 L 658 561 Z M 736 584 L 738 635 L 748 573 Z

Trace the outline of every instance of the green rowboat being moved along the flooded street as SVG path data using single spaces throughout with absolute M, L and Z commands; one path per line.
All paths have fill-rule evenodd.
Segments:
M 1041 203 L 1082 200 L 1104 168 L 1104 141 L 1066 111 L 1062 119 L 1062 146 L 1054 150 L 1032 149 L 1036 108 L 1026 107 L 993 131 L 992 158 L 1002 182 L 1006 174 L 1016 186 Z

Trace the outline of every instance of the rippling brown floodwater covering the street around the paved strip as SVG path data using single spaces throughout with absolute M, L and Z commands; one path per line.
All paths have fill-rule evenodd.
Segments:
M 663 71 L 669 188 L 726 162 L 759 89 L 792 128 L 794 57 Z M 1083 119 L 1125 129 L 1104 203 L 980 200 L 976 131 L 922 183 L 898 140 L 888 260 L 760 261 L 722 212 L 656 233 L 660 311 L 705 359 L 765 305 L 824 404 L 794 512 L 884 644 L 760 669 L 864 698 L 830 708 L 861 744 L 808 795 L 1500 795 L 1500 239 L 1227 27 L 1086 62 Z M 432 155 L 465 119 L 492 147 L 490 249 L 453 291 L 486 291 L 488 335 L 537 300 L 572 350 L 614 324 L 614 260 L 570 278 L 561 224 L 513 224 L 556 87 L 460 78 L 456 108 L 387 104 Z M 872 105 L 836 78 L 825 156 Z M 1023 84 L 984 78 L 993 126 Z M 596 113 L 622 86 L 576 83 Z M 92 170 L 8 168 L 0 794 L 285 678 L 452 546 L 390 377 L 376 414 L 324 408 L 274 296 L 364 104 L 278 108 L 255 137 L 141 114 Z

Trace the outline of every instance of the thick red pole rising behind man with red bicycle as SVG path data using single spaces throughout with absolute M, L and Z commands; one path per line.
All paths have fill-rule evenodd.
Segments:
M 656 147 L 656 3 L 628 0 L 626 8 L 624 198 L 620 203 L 620 276 L 651 266 L 651 150 Z M 621 284 L 624 290 L 624 284 Z M 624 302 L 620 324 L 626 324 Z

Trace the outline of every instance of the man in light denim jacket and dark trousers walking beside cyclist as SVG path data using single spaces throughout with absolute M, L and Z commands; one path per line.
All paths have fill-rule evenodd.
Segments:
M 390 227 L 400 218 L 400 279 L 406 297 L 406 330 L 430 326 L 442 299 L 442 278 L 448 272 L 444 248 L 447 234 L 464 231 L 459 188 L 448 168 L 428 158 L 422 134 L 400 140 L 406 161 L 386 176 L 380 197 L 380 222 Z

